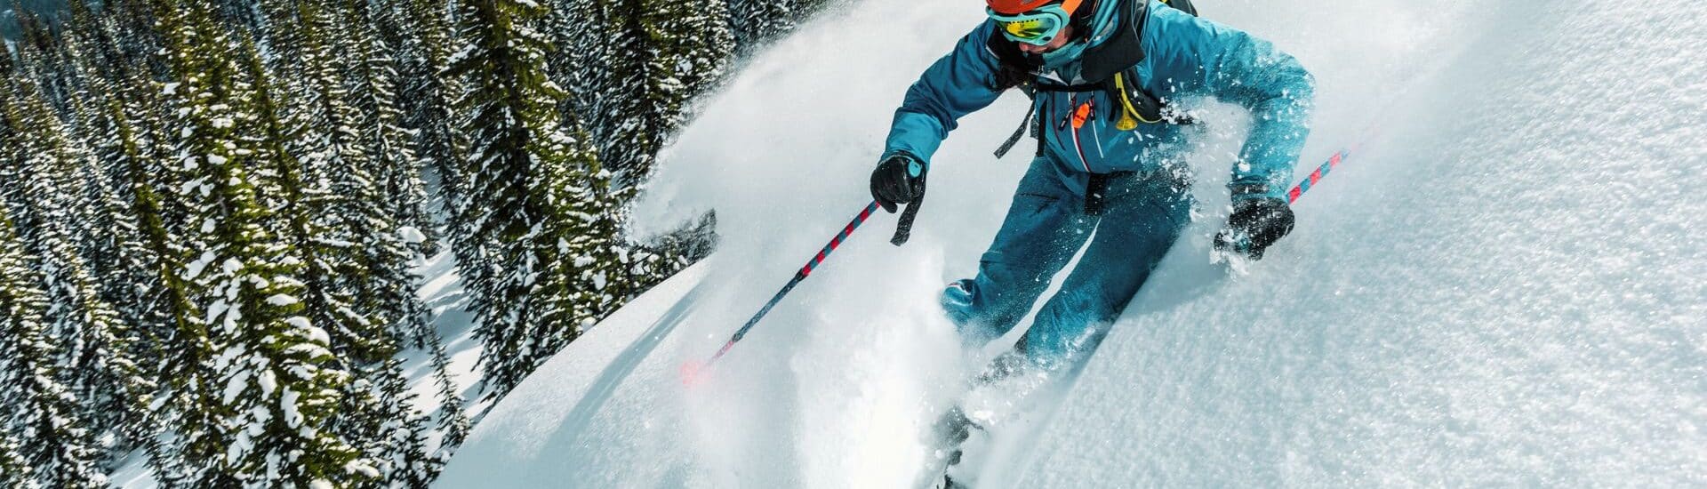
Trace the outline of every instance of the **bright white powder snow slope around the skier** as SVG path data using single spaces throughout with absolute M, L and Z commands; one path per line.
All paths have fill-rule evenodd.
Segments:
M 1241 116 L 1203 104 L 1198 221 L 983 487 L 1707 484 L 1707 3 L 1212 2 L 1320 80 L 1296 205 L 1207 265 Z M 1009 94 L 695 386 L 865 195 L 905 87 L 976 2 L 865 0 L 753 62 L 638 210 L 724 241 L 500 402 L 440 487 L 896 487 L 966 364 L 935 309 L 1024 169 Z M 874 26 L 881 26 L 876 29 Z M 889 34 L 889 36 L 877 36 Z M 1022 152 L 1017 152 L 1022 154 Z

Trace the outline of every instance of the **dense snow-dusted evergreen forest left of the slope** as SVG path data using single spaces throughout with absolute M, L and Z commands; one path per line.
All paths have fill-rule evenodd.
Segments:
M 708 251 L 714 215 L 633 239 L 625 209 L 823 2 L 14 0 L 0 486 L 425 487 L 464 397 Z M 446 253 L 475 386 L 417 294 Z

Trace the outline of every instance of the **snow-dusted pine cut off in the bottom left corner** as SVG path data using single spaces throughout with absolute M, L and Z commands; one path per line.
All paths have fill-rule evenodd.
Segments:
M 10 106 L 10 101 L 9 101 Z M 102 487 L 99 450 L 77 397 L 58 381 L 60 352 L 48 337 L 48 292 L 0 207 L 0 470 L 9 487 Z M 15 484 L 15 486 L 14 486 Z

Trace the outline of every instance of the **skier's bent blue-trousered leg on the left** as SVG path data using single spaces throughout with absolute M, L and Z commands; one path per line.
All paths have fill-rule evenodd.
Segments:
M 978 262 L 978 277 L 942 291 L 942 308 L 968 345 L 983 345 L 1014 328 L 1089 236 L 1092 221 L 1079 212 L 1082 197 L 1060 178 L 1053 159 L 1034 159 L 1002 229 Z

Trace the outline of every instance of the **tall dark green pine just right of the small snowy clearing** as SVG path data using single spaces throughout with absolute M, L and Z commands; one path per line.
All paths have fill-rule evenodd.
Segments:
M 459 268 L 480 318 L 485 385 L 509 393 L 534 366 L 580 333 L 580 267 L 570 241 L 580 193 L 597 161 L 567 137 L 556 113 L 565 96 L 546 79 L 550 41 L 536 31 L 548 9 L 524 0 L 461 3 L 463 51 L 451 70 L 468 75 L 461 108 L 473 140 L 469 215 L 456 229 Z

